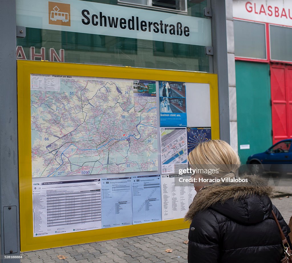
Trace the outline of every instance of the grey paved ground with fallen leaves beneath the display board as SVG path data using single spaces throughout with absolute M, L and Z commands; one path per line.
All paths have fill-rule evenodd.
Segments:
M 292 176 L 275 181 L 277 190 L 292 194 Z M 292 196 L 273 198 L 284 219 L 292 216 Z M 21 263 L 177 263 L 187 262 L 188 229 L 145 236 L 121 238 L 111 241 L 74 245 L 21 253 Z M 172 249 L 172 253 L 165 252 Z M 63 255 L 66 259 L 59 259 Z

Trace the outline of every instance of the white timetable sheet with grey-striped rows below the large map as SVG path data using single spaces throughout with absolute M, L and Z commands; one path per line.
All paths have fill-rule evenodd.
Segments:
M 32 184 L 34 237 L 101 228 L 100 179 Z

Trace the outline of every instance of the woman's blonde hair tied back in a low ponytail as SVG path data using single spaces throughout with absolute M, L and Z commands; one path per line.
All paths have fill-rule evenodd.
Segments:
M 231 146 L 222 140 L 209 140 L 200 143 L 187 157 L 190 166 L 199 170 L 205 177 L 231 177 L 238 173 L 240 160 Z M 206 173 L 206 170 L 208 172 Z M 210 173 L 210 169 L 215 172 Z M 217 169 L 217 170 L 216 170 Z M 218 173 L 217 173 L 218 171 Z

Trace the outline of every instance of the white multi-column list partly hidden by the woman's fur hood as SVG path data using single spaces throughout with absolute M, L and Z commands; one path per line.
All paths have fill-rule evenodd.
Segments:
M 190 174 L 161 176 L 162 220 L 185 217 L 196 191 L 193 184 L 179 182 L 179 178 L 190 177 Z

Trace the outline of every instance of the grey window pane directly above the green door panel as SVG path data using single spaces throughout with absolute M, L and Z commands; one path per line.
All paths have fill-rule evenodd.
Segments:
M 265 24 L 234 20 L 236 57 L 266 59 Z

